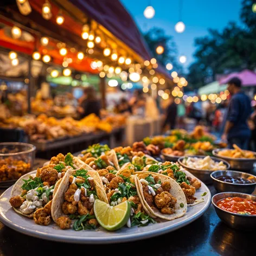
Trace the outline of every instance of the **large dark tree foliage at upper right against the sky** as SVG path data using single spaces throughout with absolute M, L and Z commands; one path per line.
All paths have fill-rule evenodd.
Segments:
M 230 22 L 222 31 L 209 29 L 208 35 L 195 39 L 196 61 L 189 67 L 190 86 L 199 88 L 216 74 L 256 68 L 256 14 L 254 0 L 244 0 L 240 12 L 242 27 Z M 197 73 L 199 72 L 199 73 Z

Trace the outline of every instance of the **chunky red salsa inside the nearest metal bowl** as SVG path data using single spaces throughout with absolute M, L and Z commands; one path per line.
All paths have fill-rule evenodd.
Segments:
M 241 197 L 227 197 L 218 201 L 217 206 L 231 213 L 256 215 L 256 202 Z

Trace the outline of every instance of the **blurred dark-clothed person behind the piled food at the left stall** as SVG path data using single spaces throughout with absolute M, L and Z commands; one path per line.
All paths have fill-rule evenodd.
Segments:
M 84 89 L 84 94 L 79 98 L 78 103 L 79 106 L 77 110 L 80 114 L 80 118 L 84 118 L 92 113 L 98 117 L 100 116 L 100 101 L 92 86 L 88 86 Z

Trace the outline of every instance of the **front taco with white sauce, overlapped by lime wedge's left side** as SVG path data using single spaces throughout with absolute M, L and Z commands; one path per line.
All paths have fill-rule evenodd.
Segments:
M 97 171 L 69 169 L 57 188 L 52 203 L 52 218 L 61 229 L 71 227 L 76 231 L 98 226 L 93 212 L 95 199 L 108 202 Z M 102 184 L 102 183 L 101 183 Z

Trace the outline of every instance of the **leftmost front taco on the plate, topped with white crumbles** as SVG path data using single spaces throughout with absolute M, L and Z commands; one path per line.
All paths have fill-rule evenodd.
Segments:
M 50 214 L 43 213 L 47 221 L 41 222 L 35 213 L 46 209 L 49 210 L 52 199 L 60 185 L 62 177 L 70 167 L 64 164 L 49 164 L 46 167 L 38 168 L 36 173 L 22 176 L 12 188 L 9 200 L 12 208 L 18 214 L 26 217 L 34 217 L 37 224 L 49 225 Z

